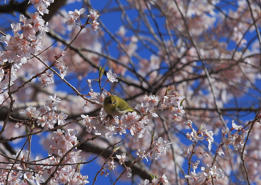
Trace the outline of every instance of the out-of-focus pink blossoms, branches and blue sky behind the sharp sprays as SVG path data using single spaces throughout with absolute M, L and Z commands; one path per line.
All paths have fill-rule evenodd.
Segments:
M 46 64 L 52 64 L 56 59 L 54 55 L 61 54 L 78 34 L 80 26 L 65 23 L 68 21 L 68 11 L 74 12 L 75 9 L 81 8 L 85 8 L 85 12 L 76 23 L 85 24 L 86 16 L 90 14 L 91 9 L 98 10 L 98 29 L 94 31 L 92 25 L 87 24 L 61 57 L 62 61 L 57 64 L 68 67 L 63 77 L 79 93 L 86 95 L 91 91 L 86 81 L 88 79 L 92 80 L 90 85 L 93 92 L 100 93 L 99 83 L 94 79 L 99 78 L 100 66 L 105 66 L 102 87 L 108 79 L 106 73 L 111 70 L 117 75 L 118 82 L 106 83 L 105 89 L 126 100 L 133 108 L 141 104 L 145 95 L 155 95 L 159 100 L 163 99 L 168 87 L 172 88 L 169 93 L 175 94 L 177 91 L 180 96 L 186 97 L 180 105 L 185 114 L 178 113 L 173 119 L 173 111 L 170 109 L 157 110 L 157 117 L 149 115 L 146 124 L 148 131 L 144 133 L 143 138 L 134 143 L 133 138 L 128 136 L 117 144 L 121 146 L 117 154 L 126 153 L 130 162 L 137 157 L 137 149 L 146 150 L 150 147 L 151 130 L 155 132 L 156 140 L 162 137 L 165 141 L 172 142 L 171 149 L 165 156 L 148 162 L 146 159 L 140 161 L 132 168 L 132 177 L 128 178 L 125 173 L 117 184 L 142 184 L 145 179 L 151 180 L 150 173 L 155 172 L 159 177 L 165 174 L 169 184 L 187 184 L 185 175 L 189 175 L 188 159 L 184 154 L 181 155 L 182 149 L 193 148 L 195 140 L 189 140 L 191 128 L 198 131 L 203 123 L 207 131 L 215 133 L 211 141 L 212 149 L 208 148 L 209 141 L 199 139 L 191 162 L 194 164 L 200 160 L 195 172 L 201 174 L 204 182 L 206 176 L 201 167 L 211 165 L 216 149 L 224 142 L 222 129 L 234 128 L 233 133 L 238 130 L 232 125 L 232 120 L 234 124 L 242 127 L 249 121 L 254 121 L 244 128 L 245 131 L 251 130 L 246 146 L 244 141 L 237 145 L 236 149 L 230 144 L 227 148 L 222 148 L 224 154 L 216 156 L 215 165 L 222 169 L 224 178 L 220 178 L 219 181 L 213 179 L 214 184 L 248 184 L 247 179 L 251 184 L 261 184 L 261 126 L 258 123 L 261 94 L 259 1 L 54 0 L 47 8 L 49 13 L 41 15 L 45 24 L 48 22 L 50 31 L 44 35 L 36 34 L 37 38 L 42 37 L 42 49 L 35 54 L 46 49 L 38 56 Z M 11 0 L 6 3 L 2 0 L 0 31 L 13 36 L 10 24 L 19 23 L 20 14 L 28 20 L 29 14 L 35 11 L 37 10 L 34 5 L 28 4 L 28 0 Z M 0 48 L 1 51 L 8 50 L 3 42 L 0 43 Z M 17 69 L 17 79 L 11 90 L 19 88 L 45 68 L 46 66 L 35 57 L 27 60 L 26 64 Z M 1 66 L 1 69 L 4 69 L 4 66 Z M 59 69 L 53 69 L 59 73 Z M 46 72 L 48 75 L 51 73 L 50 70 Z M 29 105 L 36 108 L 43 106 L 53 93 L 61 99 L 57 106 L 57 114 L 65 111 L 68 115 L 66 123 L 80 119 L 82 114 L 89 117 L 99 115 L 99 105 L 88 105 L 86 99 L 77 96 L 73 88 L 55 74 L 54 83 L 43 88 L 43 79 L 50 81 L 47 74 L 42 78 L 33 79 L 13 94 L 15 102 L 11 112 L 12 118 L 28 120 L 29 117 L 20 112 Z M 4 99 L 8 98 L 7 91 L 3 96 Z M 90 96 L 87 98 L 91 99 Z M 7 119 L 9 107 L 10 100 L 1 105 L 0 128 Z M 36 114 L 39 115 L 39 112 Z M 191 128 L 183 124 L 187 120 L 191 120 Z M 86 131 L 83 121 L 68 124 L 63 128 L 64 131 L 67 128 L 78 131 L 76 137 L 79 141 L 95 135 L 94 132 Z M 42 129 L 39 126 L 35 131 Z M 25 133 L 25 123 L 20 122 L 18 127 L 17 121 L 9 120 L 1 140 Z M 242 131 L 239 134 L 241 133 Z M 121 141 L 127 134 L 129 131 L 108 138 L 99 137 L 80 145 L 78 149 L 82 150 L 81 158 L 84 162 L 93 159 L 110 145 Z M 36 156 L 39 159 L 47 157 L 52 137 L 51 132 L 33 135 L 30 159 L 33 160 Z M 26 137 L 0 143 L 0 153 L 14 155 L 25 142 Z M 248 177 L 242 168 L 242 150 Z M 88 175 L 90 183 L 110 153 L 111 149 L 106 150 L 96 160 L 81 165 L 81 173 Z M 205 158 L 203 153 L 209 157 Z M 8 159 L 1 155 L 0 161 Z M 115 159 L 117 168 L 110 171 L 107 177 L 98 175 L 95 184 L 113 184 L 124 170 L 117 161 Z M 193 184 L 193 179 L 189 182 Z

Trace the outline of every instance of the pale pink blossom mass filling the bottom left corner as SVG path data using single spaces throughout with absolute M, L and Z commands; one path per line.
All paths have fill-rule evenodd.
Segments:
M 79 171 L 79 166 L 77 165 L 70 165 L 72 163 L 80 162 L 81 156 L 79 153 L 81 150 L 77 152 L 71 151 L 72 147 L 77 144 L 77 138 L 75 134 L 78 132 L 76 130 L 67 129 L 66 132 L 57 129 L 56 132 L 53 132 L 52 142 L 53 145 L 50 145 L 49 150 L 49 158 L 44 160 L 39 160 L 38 157 L 35 158 L 36 165 L 32 167 L 35 169 L 31 170 L 29 168 L 22 168 L 21 164 L 9 164 L 5 169 L 0 170 L 0 184 L 7 184 L 10 185 L 20 185 L 20 184 L 27 184 L 27 182 L 32 183 L 36 181 L 38 185 L 40 183 L 44 183 L 50 176 L 50 174 L 54 171 L 56 166 L 48 166 L 48 165 L 57 165 L 60 163 L 60 157 L 63 157 L 64 154 L 69 152 L 64 160 L 63 164 L 59 166 L 58 170 L 54 173 L 54 177 L 51 178 L 48 184 L 53 183 L 61 183 L 61 184 L 69 184 L 69 185 L 84 185 L 89 183 L 87 181 L 88 176 L 83 176 Z M 57 155 L 59 157 L 54 156 Z M 27 161 L 28 158 L 28 150 L 21 151 L 16 155 L 13 155 L 13 158 L 17 158 L 20 161 Z M 44 164 L 44 165 L 41 165 Z M 12 168 L 11 168 L 12 167 Z M 25 170 L 24 170 L 25 169 Z M 18 172 L 16 172 L 16 171 Z M 8 175 L 8 177 L 7 177 Z

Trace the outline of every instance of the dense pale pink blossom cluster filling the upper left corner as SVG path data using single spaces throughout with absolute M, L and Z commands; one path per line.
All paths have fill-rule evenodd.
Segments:
M 36 54 L 37 51 L 43 49 L 41 46 L 42 37 L 37 38 L 36 34 L 39 32 L 40 35 L 44 35 L 46 32 L 49 32 L 48 22 L 45 23 L 40 15 L 49 12 L 47 7 L 52 2 L 53 0 L 30 0 L 29 3 L 34 4 L 38 11 L 29 14 L 30 19 L 28 20 L 24 15 L 20 15 L 19 20 L 21 23 L 11 24 L 14 36 L 9 34 L 1 36 L 0 42 L 7 44 L 7 51 L 0 52 L 0 59 L 2 62 L 13 64 L 11 69 L 0 69 L 1 92 L 14 84 L 13 81 L 17 79 L 15 74 L 17 69 L 20 69 L 22 64 L 27 63 L 27 60 Z M 11 73 L 10 83 L 9 73 Z M 51 80 L 50 83 L 53 83 L 53 81 Z M 2 100 L 3 94 L 0 95 L 0 102 Z

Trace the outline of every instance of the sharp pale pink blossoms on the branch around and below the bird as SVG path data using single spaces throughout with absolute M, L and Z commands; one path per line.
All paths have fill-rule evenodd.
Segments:
M 107 72 L 107 82 L 117 82 L 118 80 L 116 77 L 117 75 L 115 73 L 112 74 L 111 70 Z M 93 80 L 87 80 L 90 87 L 91 81 Z M 95 100 L 96 103 L 103 105 L 107 92 L 103 91 L 102 93 L 96 93 L 93 92 L 93 89 L 91 89 L 87 95 L 91 96 L 93 98 L 92 100 Z M 143 99 L 144 100 L 141 104 L 138 104 L 135 107 L 139 111 L 140 115 L 134 111 L 121 116 L 119 119 L 117 116 L 107 116 L 103 108 L 97 117 L 90 118 L 88 115 L 82 115 L 82 118 L 84 118 L 84 124 L 86 125 L 86 131 L 91 132 L 94 129 L 96 134 L 100 134 L 103 137 L 111 137 L 113 134 L 126 133 L 127 129 L 133 136 L 133 142 L 137 142 L 139 138 L 144 137 L 143 134 L 148 130 L 148 126 L 145 125 L 149 121 L 149 115 L 158 117 L 158 114 L 156 113 L 157 110 L 161 111 L 168 109 L 169 112 L 173 113 L 174 118 L 170 119 L 172 121 L 177 121 L 177 116 L 182 116 L 185 113 L 183 107 L 181 106 L 185 97 L 180 96 L 178 92 L 167 94 L 162 99 L 155 95 L 145 95 Z M 164 151 L 165 150 L 163 150 L 163 152 Z M 158 152 L 157 155 L 162 155 L 162 153 Z

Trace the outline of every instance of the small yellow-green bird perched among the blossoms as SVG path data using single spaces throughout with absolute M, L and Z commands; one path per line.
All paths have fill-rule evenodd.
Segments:
M 137 110 L 131 108 L 131 106 L 125 100 L 115 95 L 107 96 L 104 99 L 103 108 L 105 113 L 110 115 L 122 116 L 128 112 L 136 112 L 140 115 L 140 113 Z

